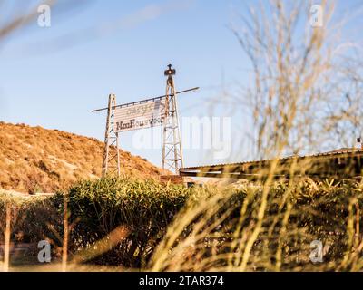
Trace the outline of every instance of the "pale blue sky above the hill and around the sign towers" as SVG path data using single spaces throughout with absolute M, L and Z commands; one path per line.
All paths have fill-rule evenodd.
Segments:
M 355 5 L 340 2 L 338 12 Z M 69 11 L 54 8 L 51 27 L 34 21 L 2 43 L 0 120 L 103 140 L 105 115 L 91 110 L 104 107 L 110 92 L 118 103 L 163 94 L 168 63 L 177 69 L 178 90 L 201 87 L 179 97 L 181 117 L 206 116 L 206 99 L 248 84 L 249 63 L 228 28 L 245 7 L 240 0 L 90 0 Z M 241 117 L 233 117 L 242 123 L 240 136 L 249 126 Z M 162 151 L 134 148 L 133 133 L 121 135 L 121 147 L 160 166 Z M 211 160 L 207 150 L 185 150 L 184 159 L 186 166 L 231 161 Z

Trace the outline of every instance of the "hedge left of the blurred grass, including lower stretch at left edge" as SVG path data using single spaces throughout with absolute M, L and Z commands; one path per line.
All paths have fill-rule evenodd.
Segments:
M 123 226 L 128 236 L 116 247 L 87 263 L 142 266 L 160 242 L 166 227 L 191 193 L 178 185 L 153 179 L 97 179 L 81 181 L 68 193 L 72 253 Z M 5 205 L 12 208 L 12 241 L 37 243 L 48 239 L 60 257 L 63 243 L 64 193 L 51 198 L 0 196 L 0 241 L 4 242 Z M 71 255 L 72 257 L 72 255 Z

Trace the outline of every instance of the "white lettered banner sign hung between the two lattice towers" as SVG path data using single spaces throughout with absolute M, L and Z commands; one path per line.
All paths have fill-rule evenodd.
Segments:
M 114 109 L 114 131 L 131 131 L 162 125 L 166 98 Z

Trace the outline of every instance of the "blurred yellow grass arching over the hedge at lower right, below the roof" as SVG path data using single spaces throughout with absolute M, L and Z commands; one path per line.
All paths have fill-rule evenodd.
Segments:
M 362 188 L 300 180 L 272 183 L 268 195 L 263 186 L 208 189 L 174 218 L 149 269 L 361 271 Z M 314 240 L 323 245 L 321 263 L 311 260 Z

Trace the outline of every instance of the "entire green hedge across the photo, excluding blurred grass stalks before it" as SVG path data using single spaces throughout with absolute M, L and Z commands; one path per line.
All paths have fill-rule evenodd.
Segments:
M 223 189 L 228 197 L 223 198 L 222 189 L 186 189 L 172 184 L 164 186 L 154 180 L 124 178 L 81 181 L 65 195 L 68 198 L 69 223 L 72 228 L 69 249 L 73 254 L 84 248 L 92 250 L 95 242 L 121 226 L 127 229 L 127 237 L 120 240 L 111 250 L 84 262 L 144 267 L 187 200 L 190 200 L 189 207 L 203 207 L 207 196 L 220 195 L 221 202 L 213 205 L 218 210 L 215 215 L 205 220 L 201 231 L 223 215 L 224 218 L 221 219 L 221 224 L 208 234 L 210 237 L 203 239 L 206 246 L 203 247 L 204 254 L 201 257 L 215 251 L 215 248 L 209 251 L 208 246 L 213 244 L 213 233 L 223 235 L 223 238 L 218 238 L 217 252 L 238 250 L 229 248 L 229 245 L 233 240 L 232 233 L 239 227 L 240 208 L 249 195 L 245 218 L 240 224 L 241 237 L 250 237 L 249 230 L 251 231 L 257 222 L 262 188 L 252 188 L 252 195 L 250 186 Z M 286 257 L 282 268 L 285 266 L 286 269 L 291 269 L 301 263 L 292 261 L 291 256 L 304 250 L 309 253 L 309 243 L 313 239 L 329 243 L 325 258 L 330 261 L 340 261 L 349 249 L 357 247 L 362 240 L 361 234 L 357 232 L 357 229 L 359 231 L 363 226 L 359 212 L 363 208 L 363 189 L 360 184 L 301 182 L 289 188 L 286 184 L 276 183 L 269 191 L 262 229 L 251 252 L 254 256 L 260 258 L 267 255 L 266 259 L 273 264 L 275 253 L 282 247 L 282 256 Z M 58 193 L 52 198 L 20 199 L 3 195 L 0 198 L 0 218 L 3 221 L 5 202 L 12 205 L 16 216 L 12 222 L 12 240 L 37 242 L 49 238 L 55 252 L 59 254 L 63 242 L 64 194 Z M 207 210 L 208 208 L 205 208 L 205 211 Z M 288 219 L 284 225 L 286 217 Z M 178 218 L 176 223 L 179 221 Z M 182 240 L 188 236 L 193 225 L 203 218 L 203 211 L 191 218 L 183 229 L 183 237 L 178 238 Z M 0 228 L 0 234 L 4 237 L 4 223 Z M 307 257 L 309 262 L 309 255 L 305 255 L 305 258 Z M 306 262 L 305 260 L 304 263 Z

